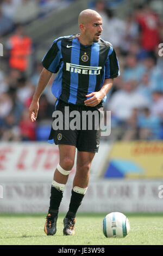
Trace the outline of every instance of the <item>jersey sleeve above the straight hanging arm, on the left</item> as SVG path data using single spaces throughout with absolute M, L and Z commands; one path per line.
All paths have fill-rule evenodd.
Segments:
M 60 67 L 61 51 L 59 49 L 59 43 L 57 39 L 54 40 L 51 48 L 42 59 L 42 65 L 44 68 L 52 73 L 57 73 Z

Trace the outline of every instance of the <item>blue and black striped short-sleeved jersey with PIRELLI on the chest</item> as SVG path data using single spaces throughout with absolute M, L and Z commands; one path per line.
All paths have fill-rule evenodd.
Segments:
M 92 45 L 80 44 L 77 35 L 54 40 L 42 59 L 43 67 L 57 73 L 52 93 L 66 103 L 84 105 L 85 95 L 99 91 L 104 79 L 120 74 L 112 45 L 102 39 Z

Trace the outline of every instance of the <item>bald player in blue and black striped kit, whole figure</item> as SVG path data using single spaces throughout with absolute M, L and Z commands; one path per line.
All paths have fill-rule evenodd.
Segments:
M 54 172 L 44 228 L 47 235 L 54 235 L 57 231 L 59 206 L 77 148 L 76 174 L 63 229 L 64 235 L 74 235 L 76 213 L 86 193 L 91 163 L 99 148 L 101 128 L 100 125 L 97 128 L 94 121 L 99 122 L 106 93 L 119 75 L 116 53 L 110 43 L 101 39 L 101 16 L 87 9 L 79 14 L 78 21 L 80 33 L 55 39 L 43 57 L 43 70 L 29 108 L 29 117 L 35 121 L 41 93 L 52 74 L 58 72 L 52 85 L 57 101 L 48 142 L 58 145 L 60 158 Z M 74 111 L 79 117 L 76 122 L 73 120 Z M 88 115 L 83 121 L 81 117 L 88 111 L 97 118 L 94 120 Z M 91 129 L 88 120 L 92 120 Z

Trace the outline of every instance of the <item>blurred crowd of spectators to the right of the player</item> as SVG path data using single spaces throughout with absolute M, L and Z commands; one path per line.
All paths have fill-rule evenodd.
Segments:
M 120 62 L 121 75 L 104 104 L 111 111 L 110 139 L 163 139 L 162 2 L 137 5 L 124 20 L 103 1 L 95 7 L 103 17 L 102 38 L 114 46 Z

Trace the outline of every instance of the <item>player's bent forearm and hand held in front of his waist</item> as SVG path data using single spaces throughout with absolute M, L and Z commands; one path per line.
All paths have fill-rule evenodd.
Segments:
M 106 94 L 112 87 L 112 84 L 113 84 L 113 79 L 106 78 L 104 80 L 103 86 L 101 87 L 101 90 L 99 90 L 98 92 L 92 92 L 92 93 L 86 95 L 87 98 L 89 98 L 89 97 L 91 97 L 91 98 L 85 100 L 85 102 L 84 102 L 85 106 L 98 105 L 102 101 L 102 99 L 106 96 Z

